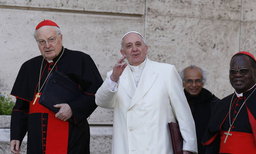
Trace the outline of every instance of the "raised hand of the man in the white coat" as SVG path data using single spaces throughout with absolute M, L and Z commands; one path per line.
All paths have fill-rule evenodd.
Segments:
M 117 82 L 119 76 L 122 75 L 125 67 L 128 65 L 127 63 L 125 63 L 124 65 L 122 64 L 125 58 L 126 58 L 126 55 L 124 55 L 122 58 L 118 59 L 118 61 L 116 62 L 117 64 L 115 64 L 115 66 L 113 68 L 113 72 L 110 76 L 110 79 L 112 81 Z

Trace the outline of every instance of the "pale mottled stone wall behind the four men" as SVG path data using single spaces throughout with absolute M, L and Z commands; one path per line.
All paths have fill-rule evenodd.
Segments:
M 201 67 L 204 87 L 219 98 L 233 91 L 231 56 L 239 51 L 256 56 L 254 0 L 0 0 L 0 14 L 0 92 L 6 93 L 20 66 L 40 55 L 33 32 L 43 19 L 60 26 L 66 48 L 89 54 L 103 79 L 121 57 L 120 38 L 133 30 L 145 36 L 151 60 L 178 71 Z M 98 107 L 89 123 L 111 127 L 113 110 Z

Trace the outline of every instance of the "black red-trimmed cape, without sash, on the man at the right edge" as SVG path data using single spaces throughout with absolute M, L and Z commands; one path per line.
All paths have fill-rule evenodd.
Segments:
M 232 119 L 236 116 L 238 110 L 240 109 L 241 105 L 245 101 L 246 98 L 253 92 L 253 90 L 256 88 L 253 87 L 251 90 L 243 92 L 242 97 L 237 97 L 236 93 L 232 93 L 231 95 L 223 98 L 222 100 L 218 101 L 214 107 L 213 114 L 210 118 L 209 124 L 207 126 L 207 129 L 205 131 L 205 134 L 202 139 L 202 143 L 206 142 L 216 142 L 218 140 L 218 144 L 214 144 L 214 146 L 209 144 L 207 146 L 206 154 L 217 154 L 218 151 L 212 151 L 212 149 L 218 149 L 220 145 L 220 139 L 219 139 L 219 132 L 221 131 L 228 131 L 230 125 L 229 125 L 229 107 L 230 102 L 232 99 L 232 107 L 230 110 L 230 119 L 232 123 Z M 248 98 L 241 108 L 239 115 L 236 118 L 236 121 L 233 124 L 233 127 L 230 131 L 234 132 L 244 132 L 244 133 L 251 133 L 254 134 L 254 137 L 256 136 L 255 133 L 253 133 L 251 123 L 249 121 L 247 108 L 252 113 L 252 116 L 256 118 L 256 91 L 252 93 L 250 98 Z M 236 103 L 237 102 L 237 103 Z M 237 104 L 237 105 L 236 105 Z M 256 130 L 254 130 L 256 131 Z M 217 136 L 216 136 L 217 135 Z M 216 138 L 215 138 L 216 137 Z

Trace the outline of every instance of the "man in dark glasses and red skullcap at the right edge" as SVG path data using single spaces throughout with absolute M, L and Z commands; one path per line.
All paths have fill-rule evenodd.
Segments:
M 256 60 L 249 52 L 238 52 L 230 61 L 230 84 L 234 93 L 218 101 L 202 143 L 206 154 L 256 153 Z M 212 144 L 220 138 L 219 144 Z M 217 146 L 216 146 L 217 145 Z

